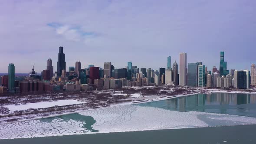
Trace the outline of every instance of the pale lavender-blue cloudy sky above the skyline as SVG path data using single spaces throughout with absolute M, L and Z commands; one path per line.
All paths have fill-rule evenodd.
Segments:
M 103 67 L 166 67 L 203 62 L 219 69 L 256 63 L 256 0 L 0 0 L 0 72 L 57 69 L 59 46 L 66 69 L 80 61 Z

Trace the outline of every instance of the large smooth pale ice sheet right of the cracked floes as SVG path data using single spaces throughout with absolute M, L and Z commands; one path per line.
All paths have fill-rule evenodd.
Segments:
M 256 118 L 251 117 L 198 111 L 170 111 L 137 105 L 83 111 L 79 114 L 92 116 L 96 121 L 92 127 L 97 129 L 98 133 L 256 124 Z

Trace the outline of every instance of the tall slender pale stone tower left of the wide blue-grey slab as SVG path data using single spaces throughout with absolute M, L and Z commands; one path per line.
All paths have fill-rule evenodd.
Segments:
M 180 79 L 179 85 L 187 85 L 187 53 L 180 53 Z

